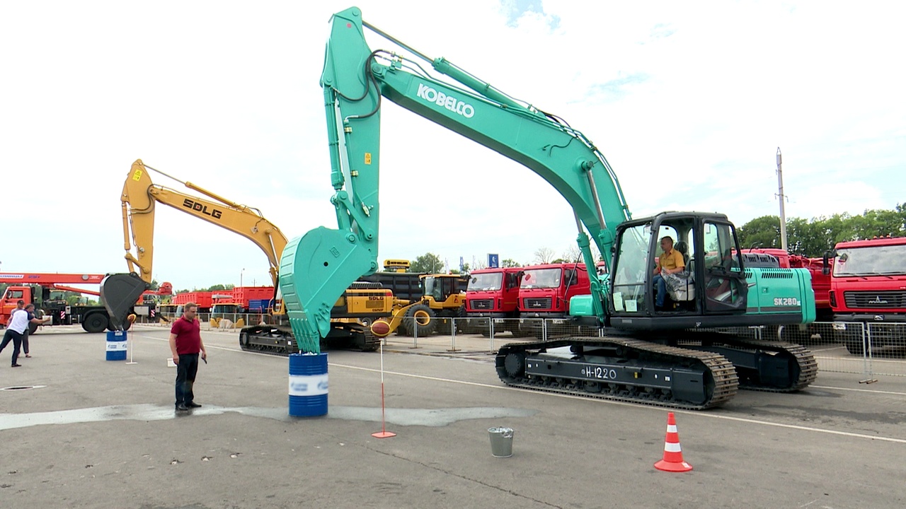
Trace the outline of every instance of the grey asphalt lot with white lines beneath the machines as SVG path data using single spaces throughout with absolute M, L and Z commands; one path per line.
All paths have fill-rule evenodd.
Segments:
M 0 369 L 4 507 L 904 504 L 901 377 L 821 370 L 796 394 L 677 411 L 694 469 L 674 474 L 653 466 L 667 410 L 507 388 L 480 335 L 329 351 L 323 418 L 290 418 L 286 358 L 240 351 L 235 331 L 203 332 L 204 407 L 176 415 L 167 335 L 137 326 L 128 359 L 109 361 L 103 335 L 45 328 L 23 368 Z M 515 429 L 512 457 L 491 456 L 497 426 Z M 397 436 L 371 436 L 382 427 Z

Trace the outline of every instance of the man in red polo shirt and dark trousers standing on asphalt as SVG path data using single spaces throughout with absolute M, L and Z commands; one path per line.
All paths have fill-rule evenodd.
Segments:
M 182 317 L 170 327 L 170 351 L 176 364 L 176 409 L 186 411 L 201 405 L 195 402 L 192 386 L 198 372 L 198 352 L 207 362 L 205 343 L 201 341 L 201 324 L 196 318 L 198 305 L 188 303 L 183 306 Z

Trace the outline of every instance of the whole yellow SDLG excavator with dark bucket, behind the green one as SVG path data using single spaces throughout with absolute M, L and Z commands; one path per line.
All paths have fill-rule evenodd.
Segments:
M 172 178 L 184 186 L 198 191 L 203 197 L 180 193 L 169 187 L 162 187 L 151 181 L 149 170 Z M 173 178 L 162 171 L 145 165 L 141 159 L 132 163 L 120 196 L 122 206 L 123 248 L 129 274 L 108 274 L 101 282 L 101 302 L 107 307 L 111 321 L 125 322 L 124 309 L 135 303 L 151 282 L 154 262 L 154 218 L 158 203 L 171 206 L 190 216 L 242 235 L 255 243 L 267 256 L 269 272 L 275 287 L 274 305 L 268 316 L 269 323 L 250 325 L 239 333 L 239 344 L 243 350 L 265 351 L 289 354 L 298 351 L 292 329 L 286 318 L 283 300 L 280 298 L 279 273 L 280 255 L 286 245 L 286 237 L 280 228 L 268 221 L 255 207 L 238 204 L 225 197 L 191 182 Z M 132 245 L 135 246 L 133 251 Z M 353 346 L 361 350 L 376 350 L 380 340 L 369 326 L 371 322 L 390 317 L 393 294 L 377 283 L 353 283 L 331 311 L 332 334 L 325 338 L 330 346 Z

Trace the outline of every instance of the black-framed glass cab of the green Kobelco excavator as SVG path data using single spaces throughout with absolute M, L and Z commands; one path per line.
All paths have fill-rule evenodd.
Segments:
M 656 307 L 654 276 L 664 237 L 672 240 L 684 267 L 663 274 L 664 305 Z M 745 313 L 747 283 L 739 253 L 736 230 L 722 214 L 666 212 L 623 223 L 614 247 L 610 314 L 620 323 L 636 322 L 631 328 L 660 329 L 701 322 L 707 315 Z

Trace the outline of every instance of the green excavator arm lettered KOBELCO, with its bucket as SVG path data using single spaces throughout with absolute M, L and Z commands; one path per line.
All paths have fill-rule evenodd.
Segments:
M 363 26 L 428 62 L 372 51 Z M 564 120 L 497 91 L 443 58 L 431 59 L 364 23 L 352 7 L 334 14 L 322 75 L 337 229 L 316 228 L 286 246 L 281 290 L 300 349 L 329 331 L 337 296 L 377 270 L 381 101 L 387 99 L 532 169 L 573 206 L 586 266 L 594 242 L 605 259 L 615 228 L 630 218 L 619 182 L 591 140 Z M 586 235 L 587 231 L 591 235 Z M 595 314 L 603 317 L 601 282 L 592 277 Z

